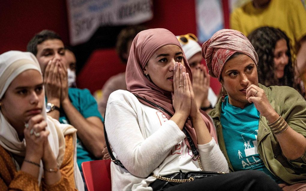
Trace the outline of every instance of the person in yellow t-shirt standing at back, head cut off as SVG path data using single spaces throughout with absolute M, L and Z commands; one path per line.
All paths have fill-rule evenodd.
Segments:
M 279 28 L 291 40 L 297 74 L 306 82 L 306 11 L 300 0 L 253 0 L 233 11 L 230 28 L 248 36 L 256 28 Z

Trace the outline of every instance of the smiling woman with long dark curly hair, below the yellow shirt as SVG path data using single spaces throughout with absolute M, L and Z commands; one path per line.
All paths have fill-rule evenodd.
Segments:
M 285 32 L 278 28 L 260 27 L 248 39 L 258 54 L 259 83 L 265 86 L 290 86 L 305 98 L 304 84 L 295 75 L 295 60 Z

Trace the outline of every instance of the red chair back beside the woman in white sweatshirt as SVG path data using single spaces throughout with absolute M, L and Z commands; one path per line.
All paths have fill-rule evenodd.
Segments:
M 93 160 L 82 163 L 88 191 L 111 191 L 110 160 Z

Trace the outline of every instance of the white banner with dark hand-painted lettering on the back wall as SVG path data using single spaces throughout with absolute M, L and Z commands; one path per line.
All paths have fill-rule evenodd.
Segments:
M 67 0 L 70 43 L 88 41 L 100 26 L 133 25 L 153 17 L 152 0 Z

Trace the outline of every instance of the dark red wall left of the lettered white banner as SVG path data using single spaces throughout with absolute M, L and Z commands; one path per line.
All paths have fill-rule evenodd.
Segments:
M 0 53 L 25 51 L 31 38 L 43 29 L 56 31 L 68 43 L 67 26 L 63 0 L 1 0 Z

